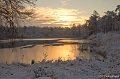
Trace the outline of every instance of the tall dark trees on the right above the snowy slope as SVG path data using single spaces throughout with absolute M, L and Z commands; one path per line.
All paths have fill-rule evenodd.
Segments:
M 98 32 L 107 33 L 110 31 L 120 31 L 120 5 L 117 5 L 114 11 L 107 11 L 100 17 L 97 11 L 94 11 L 84 25 L 89 34 Z

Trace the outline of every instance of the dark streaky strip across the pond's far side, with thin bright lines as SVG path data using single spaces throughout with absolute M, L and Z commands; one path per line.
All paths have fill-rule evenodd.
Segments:
M 15 48 L 15 47 L 34 47 L 36 45 L 64 45 L 64 44 L 80 44 L 78 42 L 65 42 L 61 40 L 79 40 L 79 38 L 51 38 L 51 39 L 15 39 L 15 40 L 0 40 L 0 49 Z M 81 42 L 82 43 L 82 42 Z

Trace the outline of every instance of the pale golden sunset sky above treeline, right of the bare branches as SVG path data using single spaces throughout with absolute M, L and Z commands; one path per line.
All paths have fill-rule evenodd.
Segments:
M 70 27 L 73 23 L 83 24 L 94 10 L 101 16 L 114 10 L 120 0 L 37 0 L 35 3 L 33 25 Z

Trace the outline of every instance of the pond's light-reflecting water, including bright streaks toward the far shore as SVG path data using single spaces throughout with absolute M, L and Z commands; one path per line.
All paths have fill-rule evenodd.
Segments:
M 32 41 L 25 45 L 19 45 L 15 48 L 1 48 L 0 49 L 0 63 L 26 63 L 30 64 L 32 60 L 38 62 L 43 59 L 46 60 L 57 60 L 62 59 L 74 60 L 76 57 L 89 59 L 90 53 L 88 51 L 80 51 L 79 43 L 87 42 L 77 39 L 65 39 L 65 38 L 54 38 L 54 39 L 24 39 L 23 41 Z M 44 41 L 46 40 L 47 43 Z M 51 41 L 52 42 L 48 42 Z M 56 41 L 57 40 L 57 41 Z M 33 42 L 34 41 L 34 42 Z M 39 41 L 38 44 L 35 41 Z

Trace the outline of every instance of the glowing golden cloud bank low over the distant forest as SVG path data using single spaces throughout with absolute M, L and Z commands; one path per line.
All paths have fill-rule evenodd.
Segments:
M 35 18 L 29 21 L 33 25 L 69 26 L 83 23 L 87 17 L 77 9 L 36 7 Z

